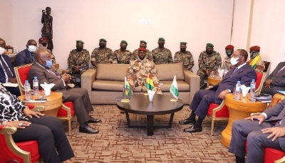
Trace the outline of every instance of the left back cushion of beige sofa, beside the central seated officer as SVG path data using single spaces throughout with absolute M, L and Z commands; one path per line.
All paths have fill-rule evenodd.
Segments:
M 128 64 L 98 63 L 98 68 L 96 70 L 96 80 L 124 81 L 128 66 Z

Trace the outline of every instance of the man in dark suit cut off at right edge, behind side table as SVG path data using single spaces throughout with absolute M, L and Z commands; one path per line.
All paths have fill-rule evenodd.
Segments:
M 285 90 L 285 62 L 277 65 L 274 71 L 267 77 L 261 93 L 274 95 L 276 90 Z

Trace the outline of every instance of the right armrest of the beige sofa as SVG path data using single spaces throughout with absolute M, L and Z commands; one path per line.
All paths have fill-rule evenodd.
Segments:
M 184 71 L 185 82 L 190 85 L 190 103 L 193 100 L 195 93 L 200 89 L 200 77 L 190 70 Z

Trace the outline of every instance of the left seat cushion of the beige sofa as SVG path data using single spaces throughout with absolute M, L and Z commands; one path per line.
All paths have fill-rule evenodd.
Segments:
M 120 81 L 110 81 L 110 80 L 95 80 L 92 83 L 92 88 L 95 90 L 110 90 L 123 93 L 124 82 Z M 135 87 L 133 92 L 142 92 L 142 86 Z

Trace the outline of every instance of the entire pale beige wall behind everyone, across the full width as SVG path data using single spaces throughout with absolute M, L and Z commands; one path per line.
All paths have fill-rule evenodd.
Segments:
M 196 72 L 199 53 L 206 43 L 213 43 L 214 50 L 224 58 L 224 47 L 230 43 L 232 5 L 233 0 L 4 0 L 0 21 L 7 25 L 0 26 L 0 37 L 23 50 L 28 39 L 41 36 L 41 10 L 51 6 L 53 52 L 62 68 L 67 67 L 66 58 L 77 39 L 85 41 L 91 53 L 100 38 L 107 39 L 113 51 L 126 40 L 133 51 L 140 40 L 147 41 L 147 48 L 152 50 L 157 47 L 157 38 L 164 37 L 172 55 L 179 51 L 180 41 L 188 42 Z M 284 0 L 254 1 L 250 46 L 261 46 L 262 58 L 271 61 L 271 70 L 285 57 L 284 6 Z M 235 0 L 231 42 L 236 49 L 247 48 L 249 9 L 249 0 Z M 140 19 L 153 23 L 141 24 Z

